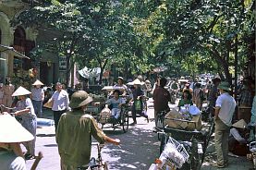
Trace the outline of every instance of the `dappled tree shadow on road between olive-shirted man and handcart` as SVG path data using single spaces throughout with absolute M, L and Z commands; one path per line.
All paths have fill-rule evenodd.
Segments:
M 129 128 L 125 135 L 112 138 L 121 140 L 120 147 L 106 145 L 103 153 L 109 155 L 110 169 L 148 169 L 159 155 L 159 142 L 151 129 Z M 109 159 L 109 158 L 108 158 Z

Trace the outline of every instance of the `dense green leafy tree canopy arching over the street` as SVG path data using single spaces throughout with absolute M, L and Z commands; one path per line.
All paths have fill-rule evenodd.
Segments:
M 44 43 L 67 57 L 68 70 L 74 62 L 102 73 L 114 64 L 126 75 L 165 66 L 170 74 L 211 71 L 231 81 L 233 67 L 247 60 L 253 6 L 252 0 L 52 0 L 13 25 L 61 32 Z

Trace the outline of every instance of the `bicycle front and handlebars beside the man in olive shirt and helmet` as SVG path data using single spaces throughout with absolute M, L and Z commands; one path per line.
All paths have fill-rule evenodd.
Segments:
M 78 167 L 78 170 L 108 170 L 108 165 L 104 162 L 102 157 L 102 149 L 104 144 L 98 142 L 92 142 L 91 146 L 97 146 L 98 156 L 97 158 L 91 157 L 90 163 L 84 166 Z

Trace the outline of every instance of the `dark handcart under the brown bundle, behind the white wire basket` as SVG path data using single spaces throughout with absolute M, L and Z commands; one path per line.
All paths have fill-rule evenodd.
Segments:
M 166 118 L 165 118 L 166 119 Z M 176 119 L 176 118 L 167 118 L 173 121 L 179 121 L 180 123 L 190 123 L 196 124 L 196 122 Z M 163 152 L 165 149 L 165 145 L 168 140 L 174 138 L 181 142 L 187 151 L 189 152 L 189 162 L 184 164 L 180 169 L 192 169 L 197 170 L 201 169 L 201 164 L 204 160 L 205 152 L 213 133 L 213 122 L 202 123 L 201 130 L 184 130 L 178 128 L 170 128 L 165 126 L 162 130 L 158 129 L 162 134 L 161 137 L 161 145 L 160 152 Z

